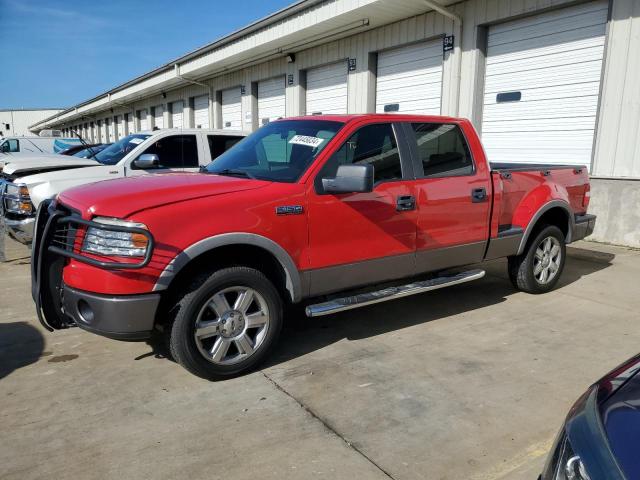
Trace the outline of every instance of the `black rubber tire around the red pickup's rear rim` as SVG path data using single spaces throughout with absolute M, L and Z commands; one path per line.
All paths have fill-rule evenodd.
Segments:
M 552 239 L 550 242 L 553 246 L 555 246 L 553 243 L 553 239 L 555 239 L 560 247 L 560 258 L 557 261 L 557 265 L 556 262 L 553 262 L 553 259 L 549 262 L 553 262 L 554 265 L 556 265 L 555 267 L 552 266 L 552 268 L 556 268 L 553 277 L 549 277 L 547 281 L 541 281 L 540 278 L 536 277 L 535 273 L 537 263 L 539 262 L 536 257 L 536 251 L 538 251 L 539 248 L 543 248 L 543 242 L 546 242 L 549 238 Z M 522 255 L 509 257 L 509 279 L 514 287 L 523 292 L 533 294 L 546 293 L 552 290 L 558 283 L 564 270 L 566 254 L 565 238 L 562 230 L 554 225 L 547 225 L 527 242 L 527 246 Z

